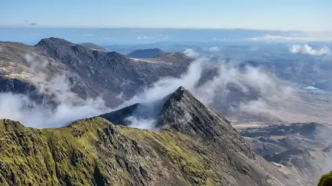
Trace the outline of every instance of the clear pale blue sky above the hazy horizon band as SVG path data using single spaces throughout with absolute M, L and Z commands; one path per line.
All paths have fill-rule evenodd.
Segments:
M 332 30 L 331 0 L 2 0 L 0 25 Z

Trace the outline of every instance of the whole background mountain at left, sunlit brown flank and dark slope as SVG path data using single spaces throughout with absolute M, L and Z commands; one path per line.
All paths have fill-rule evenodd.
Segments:
M 91 50 L 53 37 L 42 39 L 35 46 L 11 42 L 0 45 L 1 92 L 28 92 L 37 97 L 41 95 L 37 92 L 41 83 L 45 85 L 55 76 L 64 75 L 71 91 L 80 98 L 102 96 L 111 107 L 161 77 L 179 76 L 192 61 L 184 55 L 172 56 L 169 59 L 174 61 L 169 63 L 159 58 L 153 63 L 133 60 L 117 52 Z

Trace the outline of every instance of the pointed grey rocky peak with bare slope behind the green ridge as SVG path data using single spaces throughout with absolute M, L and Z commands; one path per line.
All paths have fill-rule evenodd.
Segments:
M 226 181 L 224 185 L 270 185 L 271 175 L 286 179 L 274 165 L 257 156 L 223 116 L 205 107 L 183 87 L 152 105 L 135 104 L 100 117 L 116 125 L 135 127 L 128 118 L 139 121 L 147 116 L 156 120 L 156 129 L 181 132 L 196 142 L 201 154 L 217 156 L 214 169 Z

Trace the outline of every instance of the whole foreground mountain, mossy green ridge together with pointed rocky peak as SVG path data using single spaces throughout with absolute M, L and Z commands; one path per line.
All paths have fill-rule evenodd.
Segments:
M 127 117 L 135 110 L 133 107 L 111 113 Z M 0 183 L 283 185 L 286 182 L 286 176 L 255 154 L 223 116 L 205 107 L 183 87 L 158 101 L 156 107 L 159 110 L 155 112 L 158 116 L 155 132 L 113 125 L 111 113 L 76 121 L 68 127 L 44 130 L 1 120 Z M 186 114 L 192 118 L 183 122 Z

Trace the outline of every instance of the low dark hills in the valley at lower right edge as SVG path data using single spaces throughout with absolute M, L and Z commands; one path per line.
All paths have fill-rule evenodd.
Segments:
M 258 154 L 308 185 L 315 185 L 332 168 L 331 133 L 331 127 L 320 123 L 271 125 L 240 132 Z

